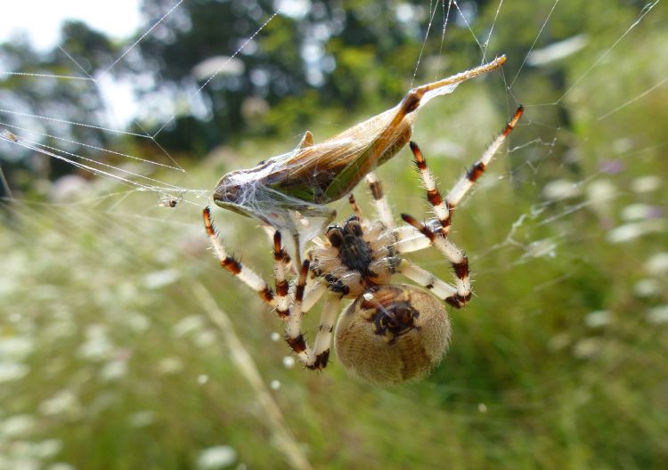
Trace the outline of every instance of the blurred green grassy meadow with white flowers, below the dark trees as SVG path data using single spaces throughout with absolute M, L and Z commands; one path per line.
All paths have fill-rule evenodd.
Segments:
M 588 75 L 566 100 L 569 128 L 544 125 L 536 82 L 456 211 L 475 295 L 449 309 L 450 350 L 419 383 L 365 384 L 336 354 L 322 372 L 295 364 L 275 313 L 212 255 L 207 198 L 162 207 L 159 194 L 94 178 L 58 203 L 4 200 L 0 468 L 665 468 L 668 89 L 599 119 L 658 83 L 664 41 L 656 29 L 615 50 L 614 80 L 609 67 L 587 71 L 595 53 L 574 59 L 571 82 Z M 509 118 L 514 103 L 493 91 L 462 86 L 421 111 L 414 140 L 442 190 Z M 379 110 L 325 113 L 315 140 Z M 184 163 L 178 184 L 213 189 L 299 134 L 241 138 Z M 397 221 L 430 216 L 409 150 L 379 177 Z M 371 214 L 368 190 L 355 195 Z M 257 223 L 213 214 L 233 253 L 271 280 Z M 436 251 L 411 259 L 451 279 Z

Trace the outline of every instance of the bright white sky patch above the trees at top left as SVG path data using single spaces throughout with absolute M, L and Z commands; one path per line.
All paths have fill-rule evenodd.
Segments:
M 0 19 L 0 42 L 20 32 L 40 50 L 58 44 L 61 23 L 83 20 L 114 38 L 130 36 L 139 27 L 140 0 L 18 0 L 5 5 Z

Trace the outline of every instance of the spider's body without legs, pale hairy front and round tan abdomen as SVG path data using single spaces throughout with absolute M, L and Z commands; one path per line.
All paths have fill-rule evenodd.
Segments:
M 337 323 L 338 359 L 378 384 L 427 375 L 445 353 L 450 320 L 432 294 L 389 283 L 402 262 L 396 232 L 353 215 L 330 226 L 325 237 L 329 244 L 307 253 L 310 269 L 327 281 L 331 293 L 354 299 Z M 329 350 L 316 360 L 318 368 L 328 359 Z

